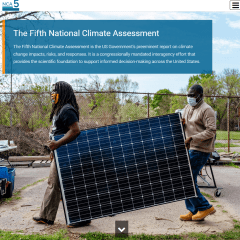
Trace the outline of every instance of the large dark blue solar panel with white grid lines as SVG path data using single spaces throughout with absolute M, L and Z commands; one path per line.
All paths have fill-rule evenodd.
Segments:
M 88 129 L 54 155 L 67 224 L 197 196 L 180 113 Z

